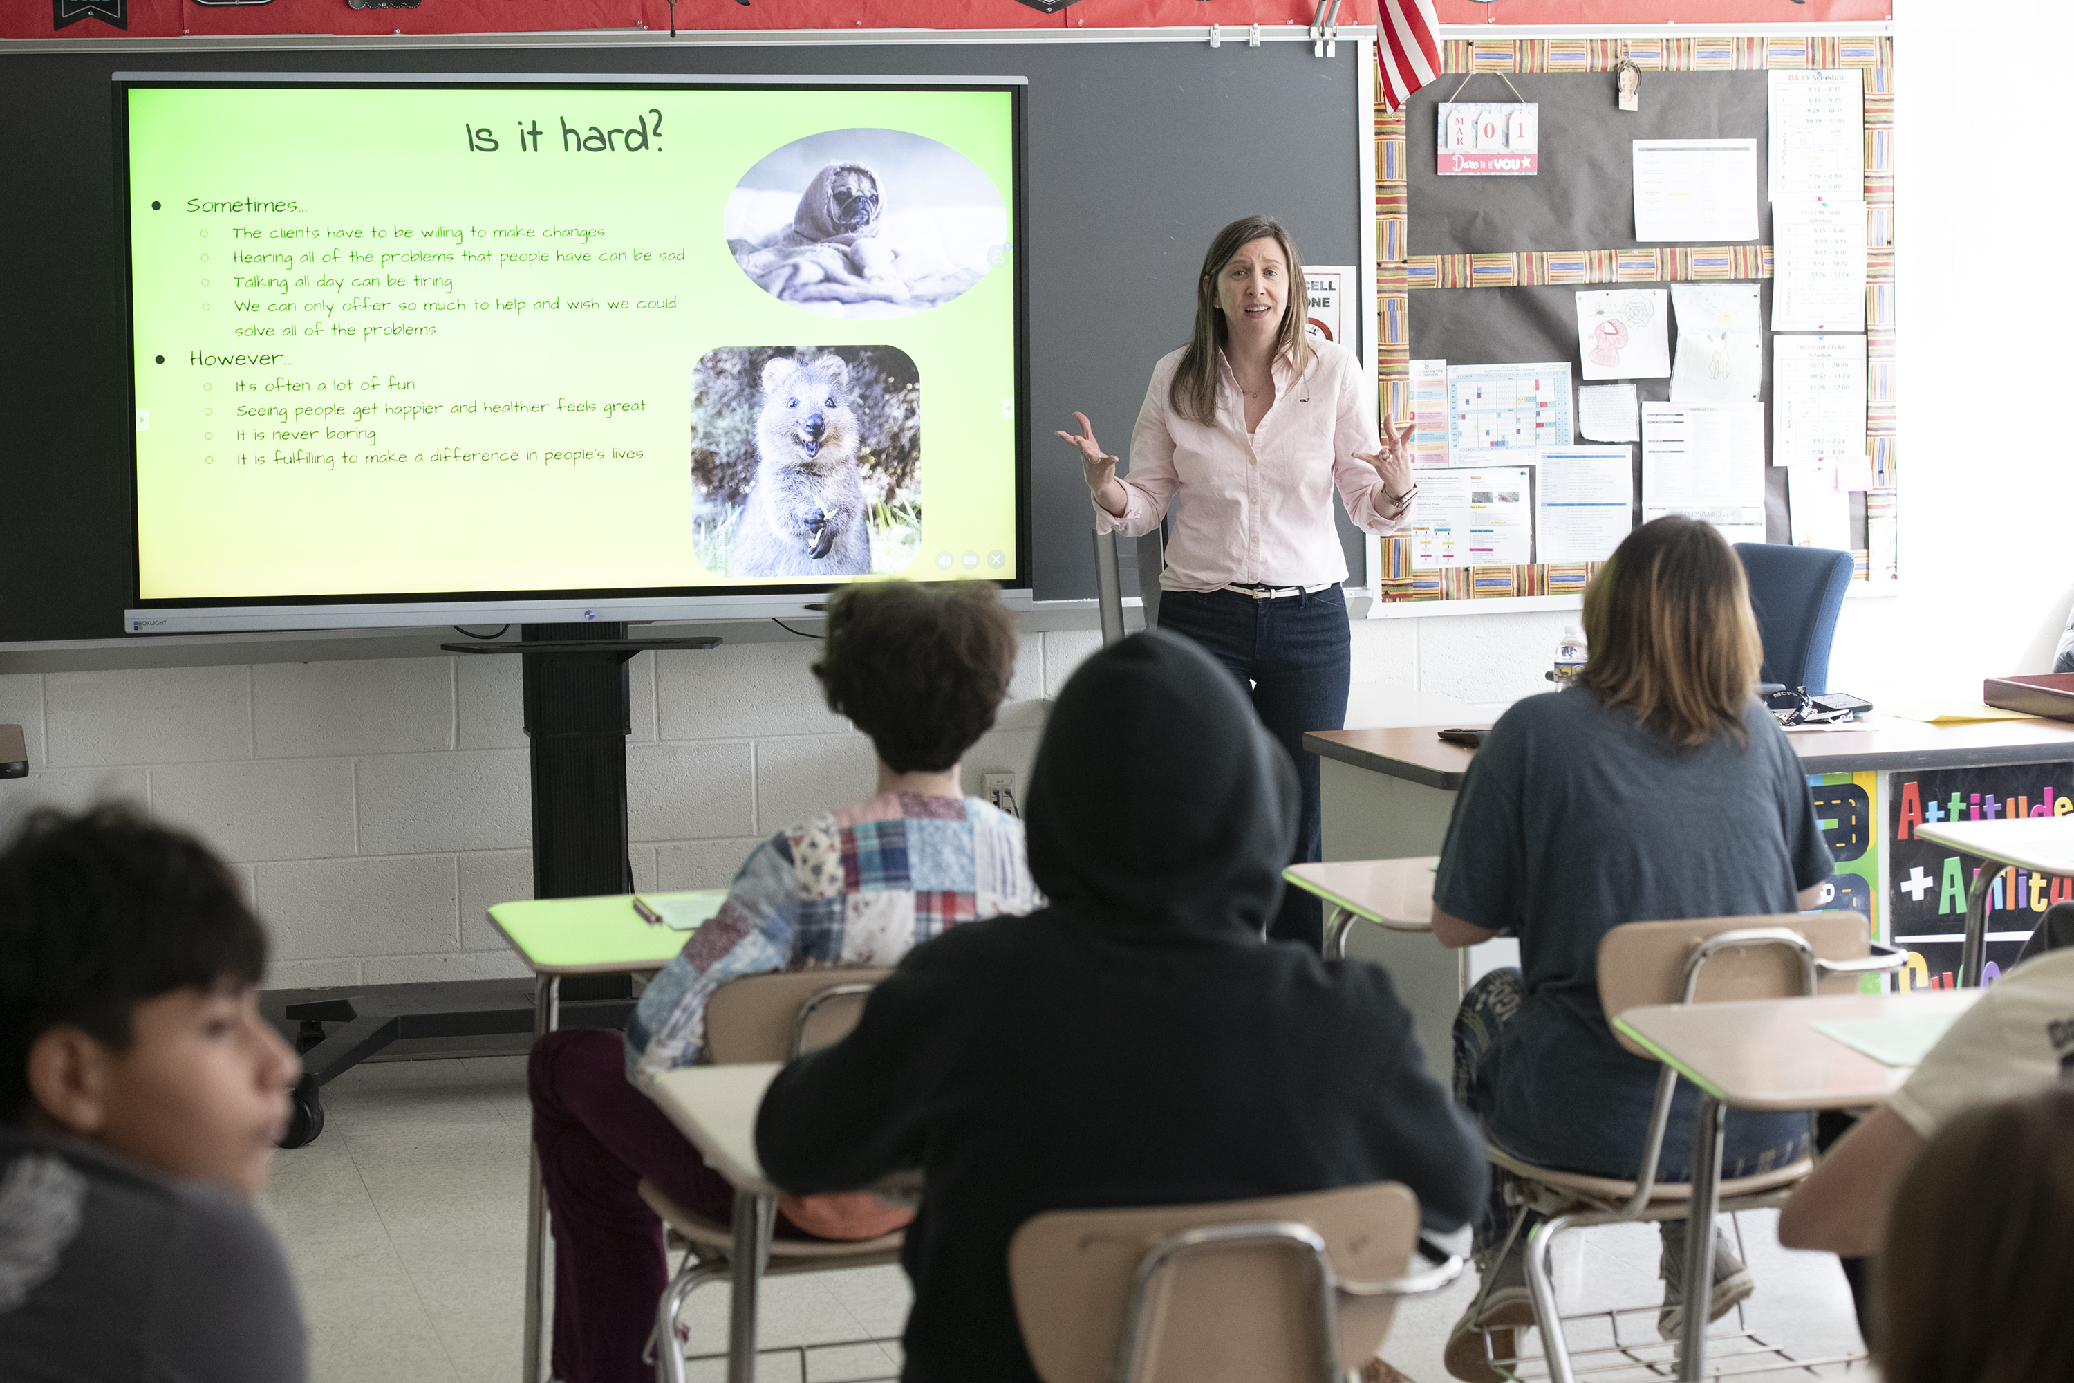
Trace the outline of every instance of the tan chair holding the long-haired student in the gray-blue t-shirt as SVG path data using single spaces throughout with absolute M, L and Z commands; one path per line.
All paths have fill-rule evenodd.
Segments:
M 1599 941 L 1599 1010 L 1611 1028 L 1616 1016 L 1645 1004 L 1723 1004 L 1856 993 L 1860 977 L 1898 970 L 1904 960 L 1906 952 L 1871 941 L 1871 927 L 1858 912 L 1628 923 L 1614 927 Z M 1655 1060 L 1618 1028 L 1614 1028 L 1614 1037 L 1634 1055 Z M 1512 1234 L 1520 1232 L 1529 1211 L 1543 1215 L 1543 1221 L 1526 1238 L 1526 1288 L 1533 1294 L 1535 1327 L 1541 1331 L 1541 1350 L 1547 1356 L 1551 1383 L 1574 1381 L 1570 1346 L 1564 1335 L 1566 1317 L 1555 1308 L 1551 1267 L 1555 1238 L 1566 1230 L 1587 1225 L 1686 1219 L 1690 1213 L 1690 1182 L 1657 1182 L 1657 1161 L 1663 1155 L 1663 1132 L 1670 1128 L 1676 1089 L 1678 1072 L 1665 1066 L 1657 1076 L 1641 1161 L 1630 1182 L 1537 1167 L 1497 1147 L 1485 1147 L 1491 1165 L 1512 1178 L 1506 1190 L 1506 1198 L 1518 1207 Z M 1813 1134 L 1813 1120 L 1809 1132 Z M 1719 1209 L 1732 1215 L 1775 1207 L 1813 1169 L 1815 1163 L 1802 1157 L 1771 1172 L 1726 1180 L 1721 1182 Z M 1711 1244 L 1713 1225 L 1692 1225 L 1688 1234 L 1707 1234 Z M 1479 1288 L 1479 1306 L 1489 1290 L 1489 1281 Z M 1690 1300 L 1690 1294 L 1686 1296 Z M 1622 1313 L 1593 1315 L 1618 1317 Z M 1614 1325 L 1616 1352 L 1634 1362 L 1636 1346 L 1620 1346 L 1618 1319 Z M 1491 1325 L 1485 1329 L 1485 1350 L 1493 1366 L 1512 1366 L 1510 1362 L 1518 1354 L 1516 1344 L 1516 1327 Z M 1804 1364 L 1796 1362 L 1794 1366 Z

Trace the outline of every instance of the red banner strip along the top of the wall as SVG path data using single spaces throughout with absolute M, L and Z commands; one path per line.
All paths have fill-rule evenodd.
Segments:
M 1891 0 L 1437 0 L 1444 25 L 1811 25 L 1887 19 Z M 1072 0 L 1047 15 L 1022 0 L 678 0 L 676 27 L 701 29 L 1141 29 L 1309 25 L 1315 0 Z M 120 27 L 110 23 L 120 19 Z M 180 37 L 265 33 L 541 33 L 662 29 L 668 0 L 423 0 L 363 8 L 346 0 L 201 6 L 193 0 L 10 0 L 0 37 Z M 1344 0 L 1342 25 L 1373 25 L 1375 0 Z M 1228 39 L 1230 41 L 1230 39 Z

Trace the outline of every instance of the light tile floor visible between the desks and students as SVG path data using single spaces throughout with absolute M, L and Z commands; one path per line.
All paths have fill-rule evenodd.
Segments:
M 311 1381 L 516 1383 L 525 1057 L 361 1066 L 326 1086 L 324 1097 L 324 1136 L 276 1157 L 274 1184 L 261 1201 L 301 1281 Z M 1850 1292 L 1835 1261 L 1779 1248 L 1771 1213 L 1740 1219 L 1759 1281 L 1746 1329 L 1796 1358 L 1858 1352 Z M 1568 1242 L 1568 1250 L 1558 1250 L 1566 1308 L 1655 1300 L 1653 1230 L 1616 1225 L 1572 1234 Z M 1383 1354 L 1419 1383 L 1441 1383 L 1448 1377 L 1441 1344 L 1470 1290 L 1462 1281 L 1410 1302 L 1398 1313 Z M 693 1354 L 726 1346 L 726 1298 L 724 1286 L 693 1298 L 686 1310 Z M 780 1346 L 892 1337 L 906 1304 L 906 1279 L 896 1267 L 772 1279 L 759 1381 L 890 1377 L 898 1371 L 896 1344 L 809 1350 L 805 1375 L 801 1356 Z M 1638 1329 L 1630 1333 L 1653 1339 L 1653 1313 L 1634 1317 Z M 1589 1327 L 1576 1327 L 1572 1348 L 1589 1344 Z M 1850 1373 L 1873 1377 L 1865 1364 Z M 718 1366 L 693 1368 L 693 1379 L 718 1377 Z

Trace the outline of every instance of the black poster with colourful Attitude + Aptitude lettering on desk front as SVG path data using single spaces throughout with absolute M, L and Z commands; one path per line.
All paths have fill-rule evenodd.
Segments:
M 1819 792 L 1819 788 L 1817 788 Z M 2030 763 L 1989 769 L 1927 769 L 1894 773 L 1887 784 L 1887 923 L 1896 945 L 1908 948 L 1902 989 L 1947 987 L 1958 979 L 1966 937 L 1966 890 L 1979 856 L 1921 840 L 1918 825 L 1937 821 L 2001 821 L 2074 813 L 2074 763 Z M 2016 962 L 2030 931 L 2055 902 L 2074 898 L 2074 881 L 2006 869 L 1989 892 L 1987 962 L 1993 983 Z

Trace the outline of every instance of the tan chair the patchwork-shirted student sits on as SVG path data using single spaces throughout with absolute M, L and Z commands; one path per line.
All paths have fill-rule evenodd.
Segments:
M 749 975 L 713 989 L 705 1001 L 705 1049 L 716 1066 L 745 1062 L 790 1062 L 792 1057 L 842 1041 L 865 1010 L 873 985 L 892 975 L 890 968 L 796 970 L 782 975 Z M 682 1242 L 684 1263 L 655 1306 L 655 1383 L 684 1383 L 684 1354 L 676 1344 L 676 1317 L 693 1292 L 709 1281 L 728 1281 L 732 1273 L 734 1227 L 697 1215 L 653 1182 L 643 1180 L 641 1198 L 662 1215 L 672 1238 Z M 761 1273 L 825 1273 L 846 1267 L 879 1267 L 900 1261 L 902 1232 L 871 1240 L 782 1240 L 772 1238 L 776 1203 L 757 1207 L 757 1240 L 765 1244 Z M 753 1310 L 755 1304 L 742 1302 Z M 801 1346 L 801 1377 L 807 1377 L 805 1350 L 877 1344 L 871 1339 L 817 1342 Z

